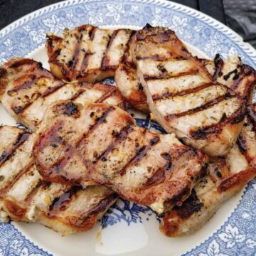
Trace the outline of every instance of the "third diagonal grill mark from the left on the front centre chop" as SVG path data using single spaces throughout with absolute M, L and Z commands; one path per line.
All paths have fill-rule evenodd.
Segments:
M 129 166 L 132 166 L 133 164 L 136 164 L 137 162 L 141 161 L 144 158 L 144 156 L 146 156 L 146 154 L 149 151 L 149 149 L 151 149 L 151 147 L 156 145 L 159 141 L 160 141 L 160 138 L 156 136 L 153 139 L 151 139 L 151 141 L 149 142 L 149 145 L 140 147 L 136 151 L 135 156 L 133 156 L 132 159 L 130 159 L 127 162 L 127 164 L 125 164 L 125 166 L 119 171 L 119 174 L 121 176 L 126 174 L 127 168 Z

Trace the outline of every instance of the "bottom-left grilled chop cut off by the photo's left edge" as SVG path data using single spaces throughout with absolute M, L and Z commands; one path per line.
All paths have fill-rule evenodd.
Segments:
M 34 137 L 18 127 L 0 127 L 0 220 L 41 223 L 61 233 L 89 230 L 117 194 L 104 186 L 43 179 L 33 161 Z

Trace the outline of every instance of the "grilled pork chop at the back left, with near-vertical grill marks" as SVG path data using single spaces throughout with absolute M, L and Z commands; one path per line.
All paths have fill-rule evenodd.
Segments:
M 83 25 L 62 37 L 48 34 L 50 70 L 67 81 L 95 82 L 113 77 L 129 45 L 132 31 Z

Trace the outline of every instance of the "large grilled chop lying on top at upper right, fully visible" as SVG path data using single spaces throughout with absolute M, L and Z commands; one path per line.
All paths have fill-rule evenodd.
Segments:
M 137 32 L 133 56 L 149 108 L 166 132 L 210 156 L 228 153 L 242 129 L 246 101 L 214 82 L 168 28 Z

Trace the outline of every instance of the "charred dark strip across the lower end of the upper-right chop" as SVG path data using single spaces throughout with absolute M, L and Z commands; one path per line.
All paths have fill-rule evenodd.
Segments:
M 220 134 L 223 127 L 225 127 L 226 125 L 238 124 L 242 122 L 242 120 L 245 118 L 245 112 L 246 102 L 242 102 L 241 107 L 236 110 L 230 117 L 227 117 L 224 113 L 218 124 L 212 124 L 208 127 L 202 127 L 201 129 L 197 129 L 196 131 L 192 130 L 190 131 L 190 135 L 191 137 L 193 137 L 193 139 L 208 139 L 210 135 Z

